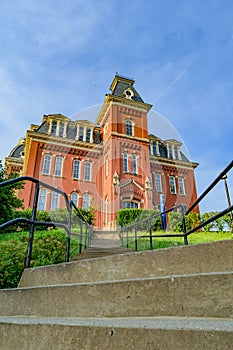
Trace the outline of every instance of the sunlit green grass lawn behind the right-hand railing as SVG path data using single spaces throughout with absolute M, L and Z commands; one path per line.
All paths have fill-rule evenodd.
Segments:
M 157 234 L 159 234 L 157 232 Z M 164 234 L 164 232 L 161 232 Z M 138 236 L 140 234 L 138 233 Z M 233 235 L 231 232 L 198 232 L 193 233 L 188 237 L 189 244 L 198 244 L 205 242 L 213 242 L 218 240 L 232 239 Z M 124 246 L 126 245 L 126 240 L 124 239 Z M 144 251 L 150 249 L 149 238 L 141 238 L 137 241 L 138 250 Z M 153 249 L 169 248 L 184 245 L 183 237 L 155 237 L 153 238 Z M 135 240 L 131 238 L 129 240 L 129 248 L 135 249 Z

